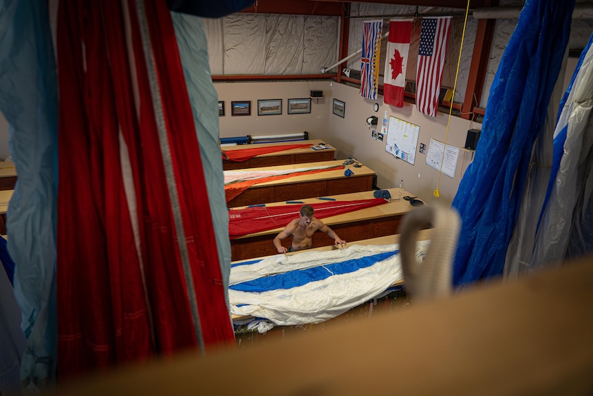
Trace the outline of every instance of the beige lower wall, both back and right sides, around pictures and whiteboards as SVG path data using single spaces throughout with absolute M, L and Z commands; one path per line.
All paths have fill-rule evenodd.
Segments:
M 380 120 L 387 110 L 391 116 L 419 125 L 418 146 L 424 143 L 428 148 L 431 137 L 444 142 L 449 114 L 438 113 L 435 118 L 424 116 L 416 110 L 415 105 L 409 103 L 405 103 L 401 109 L 391 107 L 383 104 L 382 96 L 379 96 L 377 101 L 370 101 L 358 94 L 358 88 L 330 81 L 215 83 L 215 87 L 219 101 L 225 102 L 225 116 L 219 118 L 221 137 L 248 134 L 269 136 L 307 131 L 310 138 L 327 140 L 327 143 L 334 145 L 338 150 L 337 159 L 345 159 L 352 155 L 376 171 L 379 187 L 396 187 L 399 180 L 403 179 L 405 189 L 429 203 L 438 200 L 443 205 L 451 205 L 462 172 L 473 159 L 472 152 L 460 150 L 455 178 L 442 174 L 439 185 L 440 198 L 435 198 L 433 192 L 437 187 L 439 172 L 426 165 L 426 154 L 420 154 L 417 147 L 414 165 L 394 158 L 385 152 L 385 141 L 380 142 L 370 137 L 366 120 L 369 116 L 377 116 Z M 323 90 L 322 99 L 312 99 L 311 114 L 287 114 L 287 99 L 308 97 L 310 90 Z M 279 98 L 282 99 L 283 107 L 281 115 L 257 116 L 258 99 Z M 346 103 L 345 118 L 332 113 L 333 98 Z M 231 116 L 231 101 L 251 101 L 251 115 Z M 375 102 L 380 105 L 377 113 L 373 110 Z M 481 129 L 482 125 L 452 116 L 447 143 L 463 147 L 467 130 L 471 128 Z

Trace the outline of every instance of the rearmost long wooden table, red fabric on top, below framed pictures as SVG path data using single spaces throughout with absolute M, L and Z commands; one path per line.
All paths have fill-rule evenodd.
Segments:
M 285 146 L 285 145 L 297 145 L 307 144 L 319 145 L 320 143 L 327 143 L 325 140 L 314 139 L 314 140 L 299 140 L 297 142 L 279 142 L 279 143 L 261 143 L 255 145 L 235 145 L 235 146 L 223 146 L 226 152 L 233 152 L 235 150 L 252 149 L 255 147 L 272 147 L 272 146 Z M 222 160 L 222 169 L 245 169 L 245 168 L 257 168 L 257 167 L 272 167 L 277 165 L 290 165 L 300 163 L 312 163 L 317 161 L 330 161 L 334 160 L 336 149 L 324 149 L 315 151 L 309 147 L 304 149 L 290 149 L 283 152 L 275 152 L 268 154 L 261 154 L 248 160 L 235 162 L 229 160 Z

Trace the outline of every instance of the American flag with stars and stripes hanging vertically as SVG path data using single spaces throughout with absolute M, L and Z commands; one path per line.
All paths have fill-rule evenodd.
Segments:
M 452 17 L 424 18 L 418 50 L 416 107 L 421 113 L 436 116 L 446 43 Z

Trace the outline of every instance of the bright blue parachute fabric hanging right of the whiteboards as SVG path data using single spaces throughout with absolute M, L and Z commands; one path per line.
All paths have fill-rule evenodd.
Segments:
M 501 275 L 535 138 L 568 43 L 574 0 L 528 0 L 496 72 L 482 138 L 452 206 L 462 217 L 455 286 Z

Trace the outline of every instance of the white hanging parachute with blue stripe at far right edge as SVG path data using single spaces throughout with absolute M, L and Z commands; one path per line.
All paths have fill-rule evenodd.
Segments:
M 592 36 L 593 39 L 593 36 Z M 550 196 L 541 214 L 531 271 L 593 251 L 593 50 L 591 39 L 554 132 Z M 565 134 L 565 135 L 564 135 Z M 564 139 L 565 136 L 565 139 Z

